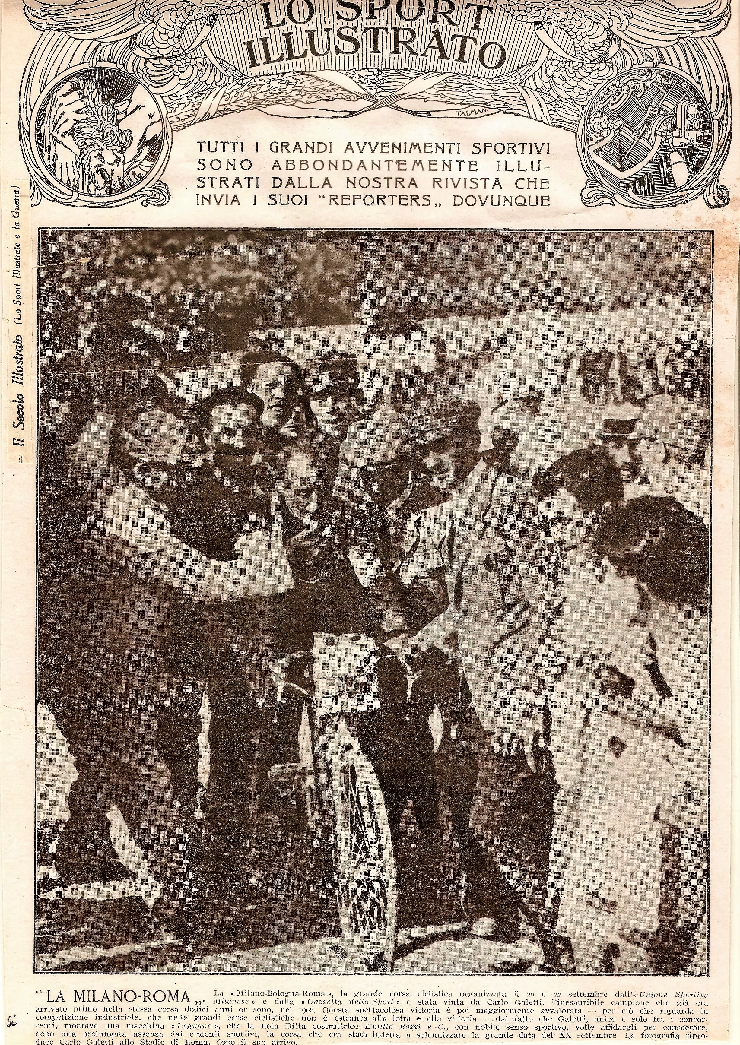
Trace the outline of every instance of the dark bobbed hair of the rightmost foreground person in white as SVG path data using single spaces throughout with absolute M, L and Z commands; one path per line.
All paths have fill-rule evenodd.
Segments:
M 632 577 L 662 602 L 709 604 L 709 531 L 673 497 L 635 497 L 607 509 L 596 548 L 620 577 Z

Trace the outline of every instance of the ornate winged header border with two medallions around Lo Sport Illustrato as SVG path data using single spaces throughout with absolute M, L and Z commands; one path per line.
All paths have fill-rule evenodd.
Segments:
M 166 204 L 171 134 L 245 110 L 511 113 L 576 135 L 586 206 L 729 202 L 729 0 L 33 2 L 32 202 Z

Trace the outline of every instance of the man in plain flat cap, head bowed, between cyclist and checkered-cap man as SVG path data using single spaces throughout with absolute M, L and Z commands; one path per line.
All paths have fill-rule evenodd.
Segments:
M 407 587 L 399 580 L 400 567 L 418 542 L 419 514 L 448 501 L 449 494 L 410 471 L 413 455 L 406 437 L 406 418 L 393 410 L 378 410 L 352 424 L 341 454 L 344 463 L 360 475 L 365 486 L 360 509 L 375 535 L 386 573 L 398 585 L 409 627 L 417 632 L 446 609 L 444 575 L 422 577 Z M 437 777 L 429 717 L 435 702 L 447 710 L 455 699 L 456 681 L 457 669 L 454 666 L 450 669 L 447 657 L 434 650 L 414 682 L 406 723 L 402 768 L 414 806 L 422 859 L 434 860 L 439 843 Z

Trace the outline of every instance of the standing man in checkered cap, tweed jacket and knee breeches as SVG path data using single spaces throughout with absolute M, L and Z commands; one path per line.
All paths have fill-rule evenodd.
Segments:
M 453 494 L 438 542 L 450 605 L 410 641 L 410 656 L 457 643 L 458 739 L 465 738 L 477 762 L 469 831 L 478 856 L 459 816 L 457 831 L 470 930 L 508 942 L 522 933 L 544 947 L 545 968 L 556 972 L 564 948 L 545 906 L 547 820 L 522 745 L 540 688 L 545 576 L 530 554 L 540 526 L 521 480 L 481 460 L 480 413 L 471 399 L 437 396 L 415 407 L 407 421 L 410 445 L 435 485 Z M 517 900 L 528 912 L 522 926 Z

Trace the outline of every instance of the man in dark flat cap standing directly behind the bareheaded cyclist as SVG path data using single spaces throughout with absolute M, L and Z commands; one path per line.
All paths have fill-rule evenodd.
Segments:
M 340 457 L 349 426 L 360 420 L 363 390 L 354 352 L 322 348 L 301 364 L 303 393 L 314 420 L 303 436 L 306 442 L 317 442 L 331 456 L 337 465 L 334 496 L 346 497 L 359 505 L 365 496 L 356 473 Z

